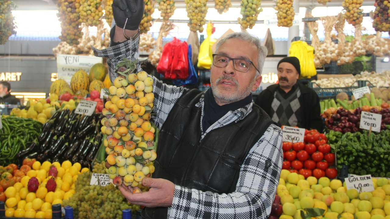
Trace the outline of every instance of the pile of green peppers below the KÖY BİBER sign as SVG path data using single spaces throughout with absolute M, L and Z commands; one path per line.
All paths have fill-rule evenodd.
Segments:
M 373 177 L 390 178 L 390 125 L 381 132 L 330 131 L 326 134 L 330 147 L 336 152 L 336 167 L 348 166 L 348 173 L 371 174 Z

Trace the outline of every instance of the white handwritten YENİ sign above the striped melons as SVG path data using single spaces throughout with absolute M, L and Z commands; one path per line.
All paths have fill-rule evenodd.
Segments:
M 74 73 L 82 69 L 88 74 L 89 69 L 96 63 L 103 63 L 103 58 L 84 55 L 57 55 L 57 78 L 70 83 Z

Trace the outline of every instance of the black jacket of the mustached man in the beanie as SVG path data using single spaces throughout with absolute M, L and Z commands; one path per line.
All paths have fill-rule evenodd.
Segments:
M 274 99 L 274 94 L 278 88 L 278 84 L 271 85 L 263 90 L 257 97 L 255 104 L 260 106 L 266 113 L 271 111 L 271 104 Z M 298 84 L 301 90 L 301 96 L 298 98 L 301 105 L 301 117 L 298 120 L 305 129 L 317 129 L 319 132 L 323 131 L 323 122 L 320 117 L 319 97 L 317 93 L 304 85 Z M 269 115 L 272 117 L 272 115 Z

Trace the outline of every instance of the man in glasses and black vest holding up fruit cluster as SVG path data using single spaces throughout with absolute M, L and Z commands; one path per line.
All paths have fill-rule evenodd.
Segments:
M 116 24 L 111 45 L 97 50 L 107 57 L 110 79 L 115 64 L 138 57 L 142 0 L 113 0 Z M 148 192 L 133 194 L 144 205 L 142 217 L 268 218 L 282 168 L 282 131 L 252 101 L 261 83 L 267 50 L 246 32 L 222 39 L 213 55 L 211 89 L 206 92 L 163 84 L 152 77 L 154 113 L 160 129 L 153 178 Z M 136 71 L 142 71 L 137 60 Z

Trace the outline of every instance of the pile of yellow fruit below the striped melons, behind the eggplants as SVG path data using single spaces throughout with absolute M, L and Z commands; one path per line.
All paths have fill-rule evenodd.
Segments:
M 55 99 L 55 96 L 57 96 L 57 99 Z M 56 107 L 60 107 L 60 103 L 58 102 L 58 95 L 54 94 L 51 100 L 52 101 L 50 103 L 47 103 L 46 99 L 44 98 L 40 98 L 38 99 L 38 101 L 31 99 L 27 103 L 27 106 L 30 106 L 27 110 L 13 108 L 11 110 L 10 115 L 14 115 L 16 117 L 21 118 L 32 118 L 34 120 L 37 120 L 38 122 L 41 122 L 42 124 L 45 124 L 55 113 L 55 111 L 57 111 Z M 73 105 L 69 106 L 69 109 L 73 107 Z

